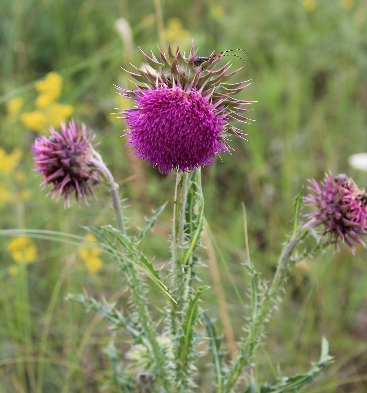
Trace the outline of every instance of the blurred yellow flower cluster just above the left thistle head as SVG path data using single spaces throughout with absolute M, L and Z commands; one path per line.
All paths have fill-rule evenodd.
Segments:
M 48 127 L 57 127 L 61 121 L 71 116 L 74 112 L 71 105 L 56 102 L 61 94 L 62 83 L 63 79 L 57 72 L 49 72 L 43 81 L 38 81 L 35 84 L 35 88 L 39 92 L 35 101 L 35 110 L 24 112 L 20 116 L 25 127 L 34 131 L 47 132 Z M 8 104 L 8 116 L 11 105 L 15 106 L 16 103 Z

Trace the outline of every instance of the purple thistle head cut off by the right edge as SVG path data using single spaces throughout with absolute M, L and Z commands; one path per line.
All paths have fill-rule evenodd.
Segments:
M 329 241 L 335 242 L 340 251 L 341 239 L 347 243 L 354 253 L 353 241 L 365 246 L 360 235 L 366 235 L 367 229 L 367 196 L 364 189 L 359 189 L 352 179 L 345 175 L 334 178 L 325 174 L 324 182 L 309 180 L 312 187 L 308 187 L 315 195 L 305 196 L 308 206 L 317 208 L 307 214 L 311 217 L 311 226 L 324 225 L 324 232 L 330 233 Z

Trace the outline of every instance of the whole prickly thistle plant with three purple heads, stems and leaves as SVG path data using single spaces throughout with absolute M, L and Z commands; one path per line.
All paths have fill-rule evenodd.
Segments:
M 245 135 L 232 125 L 233 121 L 247 122 L 242 101 L 233 96 L 240 93 L 248 81 L 230 84 L 235 73 L 228 73 L 228 65 L 216 68 L 221 57 L 209 57 L 195 68 L 196 52 L 192 48 L 185 59 L 177 48 L 168 48 L 168 55 L 160 51 L 161 60 L 143 53 L 148 64 L 156 70 L 128 72 L 136 79 L 136 90 L 119 88 L 120 94 L 131 98 L 136 106 L 124 110 L 121 118 L 129 127 L 127 143 L 136 150 L 135 155 L 156 166 L 160 172 L 176 171 L 174 191 L 171 261 L 169 272 L 163 274 L 141 251 L 140 242 L 153 228 L 154 222 L 166 204 L 159 207 L 146 226 L 133 235 L 126 229 L 121 197 L 112 174 L 92 146 L 93 138 L 82 126 L 79 136 L 76 123 L 62 125 L 58 134 L 51 130 L 50 138 L 40 136 L 33 146 L 35 167 L 44 176 L 44 185 L 53 184 L 52 193 L 59 192 L 69 204 L 75 192 L 86 202 L 93 195 L 96 184 L 106 182 L 110 189 L 115 224 L 101 228 L 87 228 L 98 241 L 95 246 L 113 258 L 124 276 L 124 285 L 130 290 L 128 312 L 116 303 L 98 301 L 84 294 L 70 294 L 69 299 L 83 303 L 87 309 L 98 312 L 110 323 L 110 329 L 124 329 L 131 339 L 125 353 L 113 341 L 105 353 L 111 364 L 110 380 L 106 386 L 122 392 L 190 392 L 201 391 L 198 366 L 203 355 L 198 344 L 208 343 L 208 356 L 212 360 L 213 380 L 208 392 L 246 393 L 298 391 L 308 385 L 330 364 L 328 342 L 323 339 L 321 356 L 309 371 L 291 377 L 279 378 L 274 384 L 252 381 L 256 350 L 266 333 L 266 323 L 284 293 L 286 277 L 304 257 L 321 252 L 328 244 L 345 242 L 355 251 L 354 242 L 362 243 L 366 234 L 367 196 L 364 190 L 346 176 L 334 178 L 326 174 L 323 183 L 310 182 L 310 195 L 303 189 L 295 199 L 293 228 L 278 260 L 274 277 L 268 281 L 256 270 L 256 262 L 247 258 L 243 264 L 249 279 L 248 315 L 244 316 L 245 334 L 239 338 L 234 358 L 222 351 L 221 337 L 217 334 L 213 318 L 200 304 L 200 296 L 210 290 L 208 285 L 198 286 L 196 266 L 200 263 L 197 248 L 201 246 L 204 230 L 204 198 L 201 185 L 201 166 L 212 165 L 215 157 L 229 151 L 228 136 Z M 231 122 L 231 123 L 230 123 Z M 313 209 L 301 216 L 305 202 Z M 321 236 L 315 228 L 322 227 Z M 326 240 L 324 235 L 329 234 Z M 306 237 L 315 242 L 304 242 Z M 91 243 L 91 242 L 89 242 Z M 307 246 L 305 246 L 307 244 Z M 313 244 L 313 245 L 309 245 Z M 304 249 L 299 252 L 300 246 Z M 150 312 L 149 293 L 141 272 L 156 285 L 166 299 L 160 323 Z M 205 283 L 204 283 L 205 284 Z

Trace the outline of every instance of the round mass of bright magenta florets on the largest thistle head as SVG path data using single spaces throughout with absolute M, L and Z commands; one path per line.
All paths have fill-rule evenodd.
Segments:
M 135 155 L 157 165 L 161 172 L 189 171 L 213 163 L 228 148 L 221 143 L 223 113 L 207 97 L 175 86 L 137 91 L 136 108 L 124 119 L 130 128 L 128 144 Z

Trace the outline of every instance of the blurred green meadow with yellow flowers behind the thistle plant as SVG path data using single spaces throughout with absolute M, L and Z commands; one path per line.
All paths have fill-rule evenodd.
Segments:
M 161 175 L 133 158 L 126 137 L 120 138 L 125 125 L 111 112 L 130 104 L 113 84 L 132 87 L 120 67 L 143 64 L 139 47 L 158 56 L 157 45 L 167 48 L 169 37 L 186 53 L 193 39 L 202 56 L 248 51 L 235 79 L 252 79 L 239 98 L 258 101 L 250 112 L 257 122 L 243 125 L 247 142 L 233 138 L 232 156 L 222 154 L 223 162 L 203 170 L 205 215 L 222 257 L 204 238 L 202 261 L 210 268 L 200 275 L 212 285 L 205 302 L 230 350 L 245 323 L 233 282 L 247 299 L 241 202 L 252 262 L 270 279 L 291 227 L 293 199 L 307 178 L 322 180 L 331 170 L 367 184 L 365 172 L 348 166 L 350 154 L 367 149 L 367 2 L 0 0 L 0 9 L 1 228 L 84 236 L 80 225 L 113 223 L 107 189 L 98 190 L 90 207 L 73 201 L 64 209 L 45 198 L 32 171 L 37 132 L 47 134 L 49 124 L 57 128 L 63 117 L 73 117 L 102 142 L 98 149 L 127 198 L 132 232 L 170 201 L 143 245 L 157 266 L 169 260 L 174 174 Z M 241 66 L 235 57 L 226 59 L 233 69 Z M 57 74 L 46 77 L 50 72 Z M 82 250 L 1 237 L 0 392 L 102 391 L 109 370 L 103 349 L 114 333 L 64 297 L 86 288 L 97 299 L 126 305 L 129 296 L 113 261 L 95 255 L 87 265 Z M 366 256 L 361 247 L 353 257 L 343 246 L 294 268 L 256 356 L 261 381 L 274 382 L 278 364 L 285 375 L 306 371 L 326 336 L 335 363 L 308 391 L 367 391 Z M 161 303 L 154 288 L 151 293 Z M 120 331 L 115 341 L 122 353 L 129 337 Z M 209 392 L 210 368 L 203 372 L 198 391 Z

